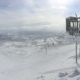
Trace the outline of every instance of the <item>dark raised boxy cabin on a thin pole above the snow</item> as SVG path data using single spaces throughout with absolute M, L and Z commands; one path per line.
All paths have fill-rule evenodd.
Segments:
M 67 17 L 66 31 L 71 35 L 80 33 L 80 17 Z

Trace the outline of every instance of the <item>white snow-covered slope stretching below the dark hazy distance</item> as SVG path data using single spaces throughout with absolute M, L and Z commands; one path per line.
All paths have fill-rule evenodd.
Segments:
M 24 38 L 1 39 L 0 80 L 80 80 L 70 36 Z

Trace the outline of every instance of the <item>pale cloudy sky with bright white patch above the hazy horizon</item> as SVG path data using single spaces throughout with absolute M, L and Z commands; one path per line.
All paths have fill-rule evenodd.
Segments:
M 0 0 L 0 28 L 65 31 L 65 18 L 80 14 L 80 0 Z

